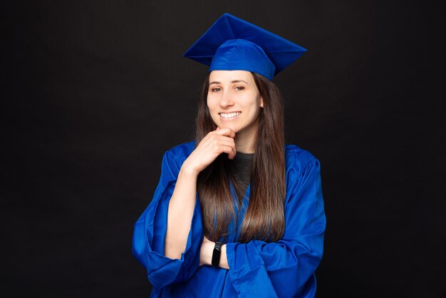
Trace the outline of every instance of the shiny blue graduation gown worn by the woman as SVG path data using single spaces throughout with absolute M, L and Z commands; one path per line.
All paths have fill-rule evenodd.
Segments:
M 133 255 L 147 269 L 153 286 L 150 297 L 314 297 L 314 271 L 321 261 L 326 227 L 320 164 L 296 145 L 286 145 L 285 150 L 285 232 L 281 240 L 239 243 L 237 229 L 227 240 L 230 269 L 199 267 L 203 231 L 197 197 L 185 252 L 180 260 L 164 256 L 167 206 L 181 165 L 194 145 L 177 145 L 165 153 L 152 202 L 135 223 Z M 232 193 L 235 195 L 233 187 Z M 248 194 L 249 187 L 241 219 Z

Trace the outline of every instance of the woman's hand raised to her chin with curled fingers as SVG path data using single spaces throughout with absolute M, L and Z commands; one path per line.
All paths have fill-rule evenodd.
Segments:
M 233 159 L 237 154 L 234 138 L 235 133 L 230 128 L 217 128 L 211 131 L 190 153 L 182 167 L 198 175 L 222 153 L 227 153 L 229 159 Z

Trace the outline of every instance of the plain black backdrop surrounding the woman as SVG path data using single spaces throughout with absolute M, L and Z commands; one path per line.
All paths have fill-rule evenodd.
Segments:
M 274 81 L 322 165 L 316 296 L 446 297 L 440 1 L 1 6 L 2 297 L 149 296 L 133 222 L 192 138 L 207 68 L 182 53 L 224 12 L 308 48 Z

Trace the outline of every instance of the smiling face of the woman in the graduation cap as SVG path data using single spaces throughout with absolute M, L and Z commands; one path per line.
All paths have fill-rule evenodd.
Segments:
M 253 140 L 263 99 L 249 71 L 212 71 L 207 107 L 217 126 Z

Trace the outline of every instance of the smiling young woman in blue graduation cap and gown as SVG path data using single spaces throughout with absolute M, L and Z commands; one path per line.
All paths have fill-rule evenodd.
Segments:
M 151 297 L 314 297 L 320 165 L 284 144 L 273 76 L 304 48 L 224 14 L 185 56 L 210 66 L 196 140 L 168 150 L 135 223 Z

